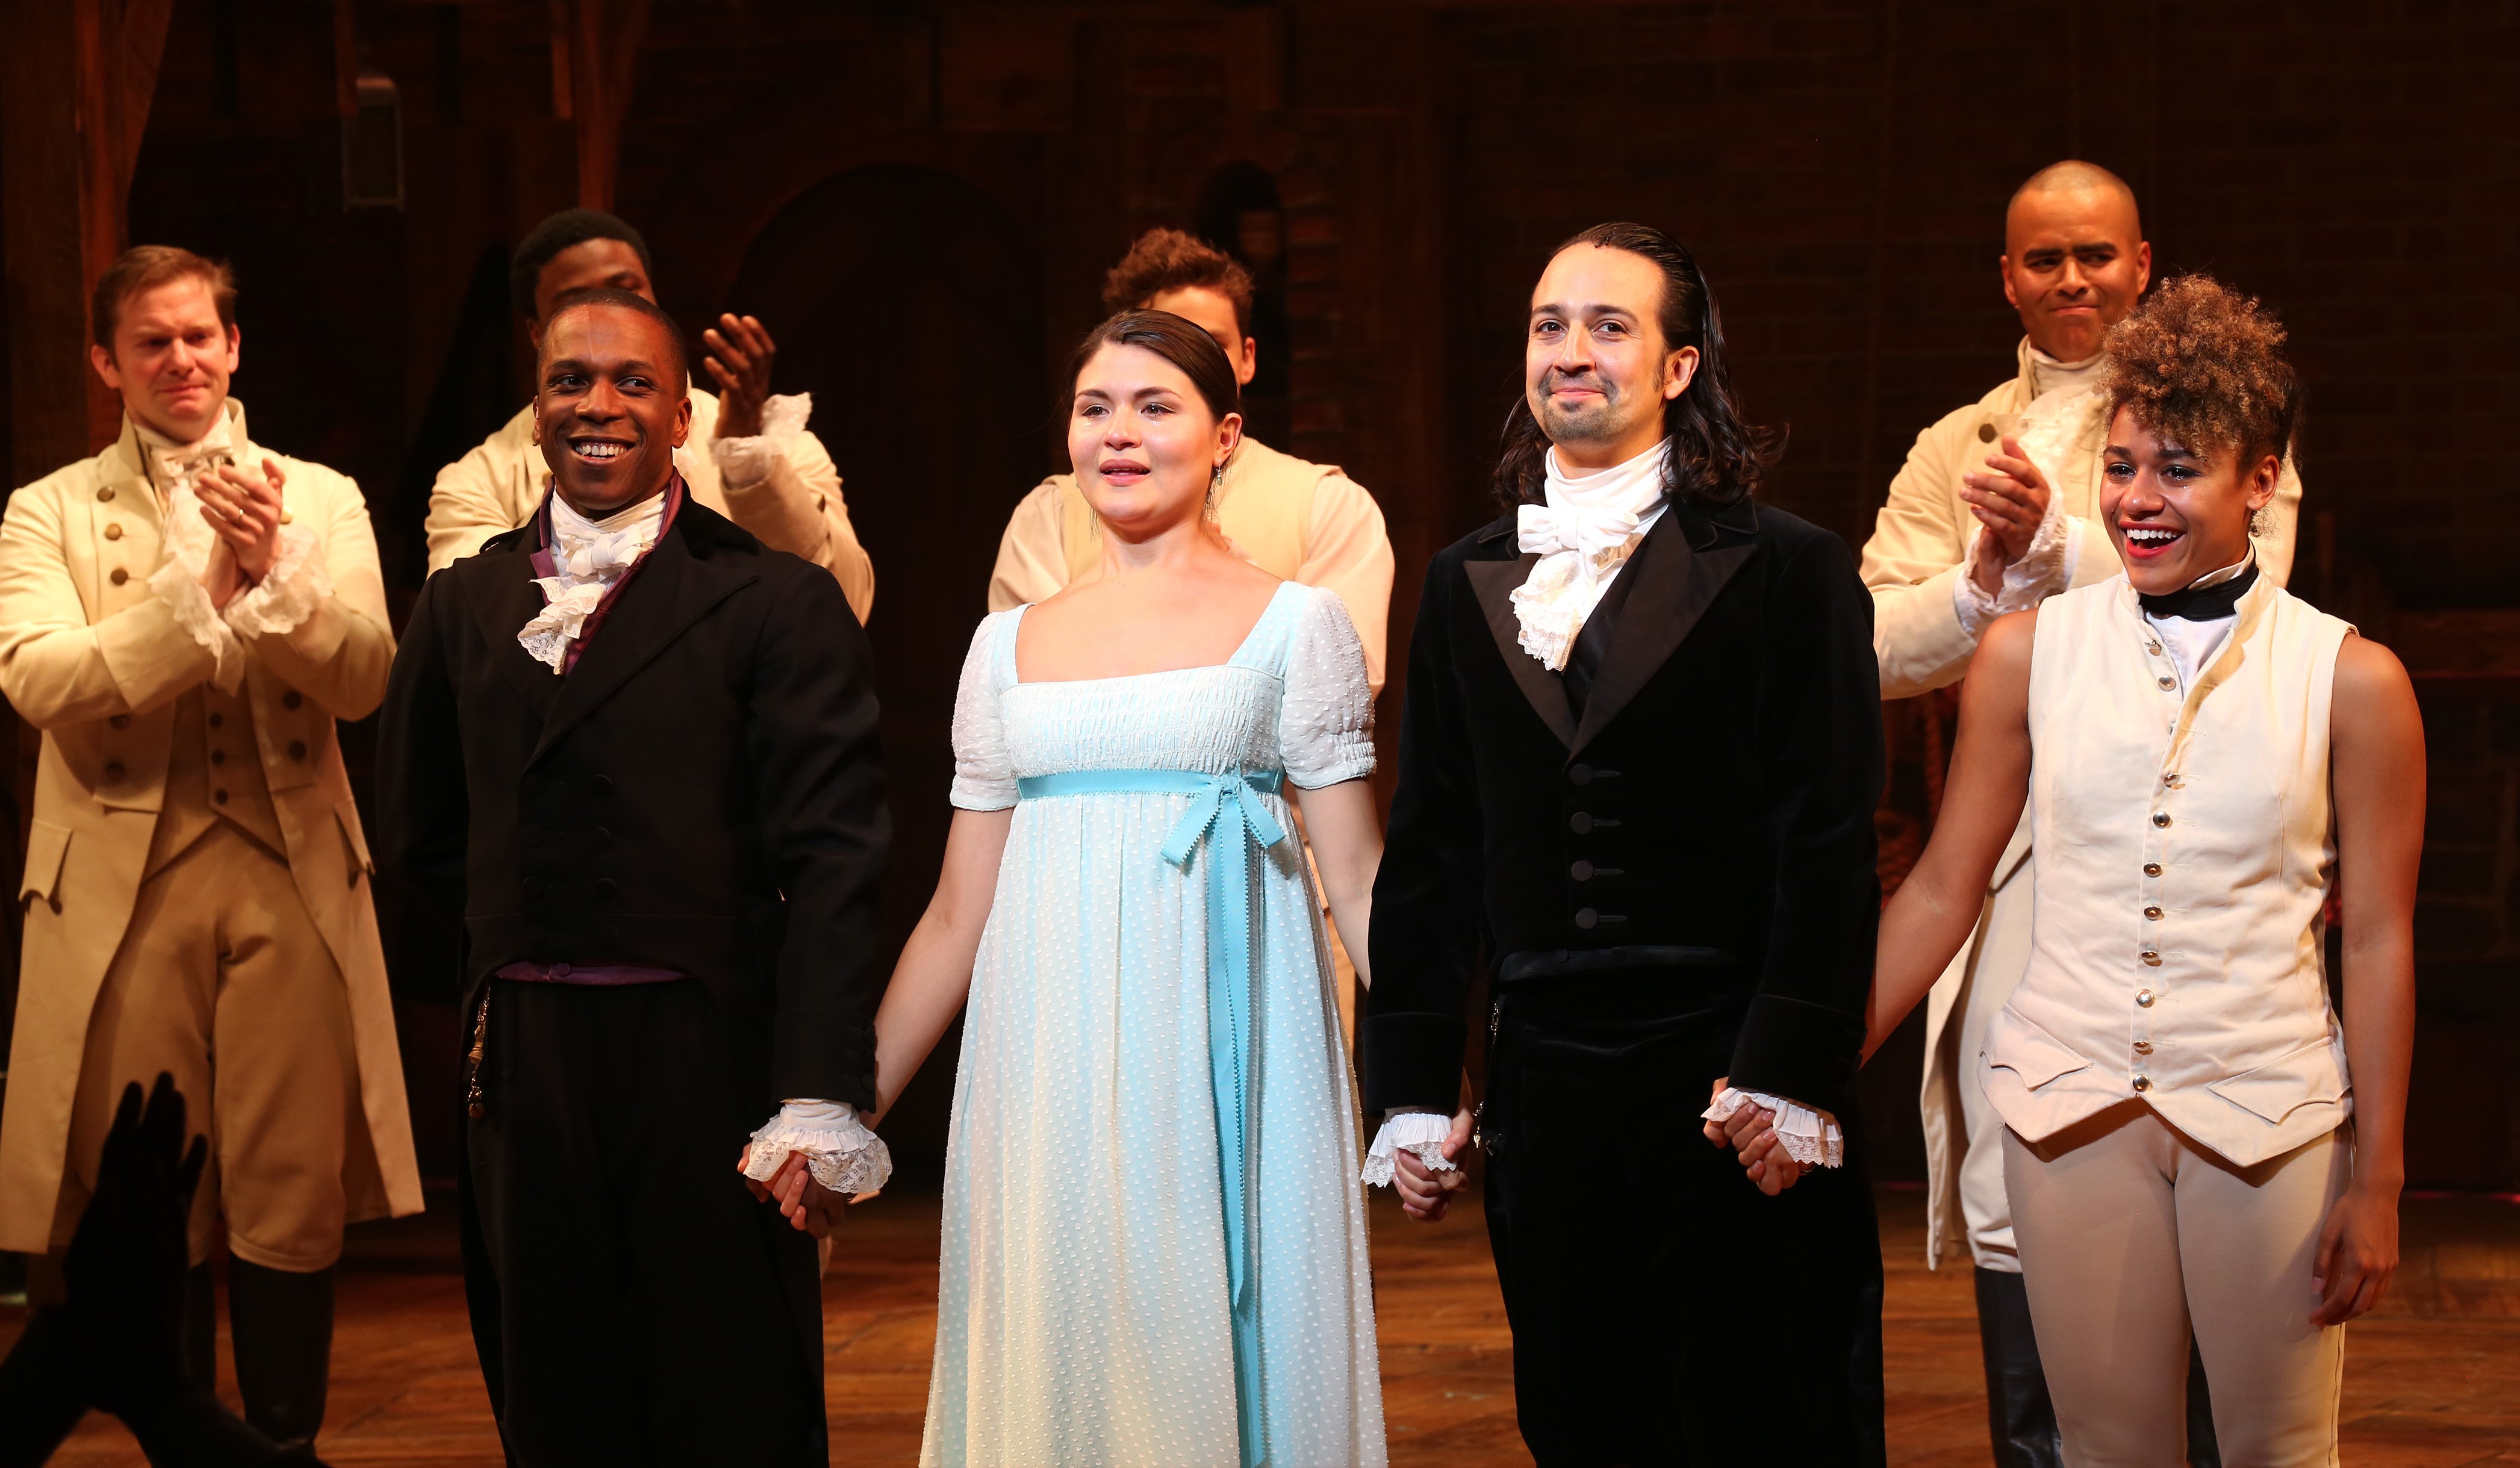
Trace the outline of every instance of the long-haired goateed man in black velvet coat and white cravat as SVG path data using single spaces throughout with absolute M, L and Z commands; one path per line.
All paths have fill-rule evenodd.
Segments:
M 1882 1460 L 1880 1244 L 1830 1146 L 1880 909 L 1872 607 L 1749 499 L 1764 458 L 1688 252 L 1578 234 L 1532 295 L 1517 516 L 1434 559 L 1411 632 L 1366 1108 L 1421 1219 L 1477 1126 L 1542 1465 Z M 1446 1136 L 1404 1113 L 1454 1113 L 1479 972 L 1487 1095 Z

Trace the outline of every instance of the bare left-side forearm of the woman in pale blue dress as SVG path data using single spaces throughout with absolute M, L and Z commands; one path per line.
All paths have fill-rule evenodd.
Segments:
M 927 899 L 920 927 L 910 929 L 902 962 L 892 967 L 892 985 L 874 1010 L 877 1118 L 892 1110 L 970 997 L 970 967 L 980 957 L 980 929 L 998 896 L 998 861 L 1013 821 L 1013 811 L 953 813 L 937 891 Z

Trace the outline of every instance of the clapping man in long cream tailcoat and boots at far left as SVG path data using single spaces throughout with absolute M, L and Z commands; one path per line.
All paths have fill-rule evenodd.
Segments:
M 43 730 L 25 985 L 0 1121 L 0 1249 L 55 1254 L 126 1083 L 174 1075 L 209 1133 L 247 1418 L 323 1423 L 343 1226 L 421 1211 L 368 841 L 333 725 L 386 695 L 393 632 L 345 476 L 247 438 L 234 287 L 141 247 L 96 290 L 121 438 L 8 501 L 0 690 Z

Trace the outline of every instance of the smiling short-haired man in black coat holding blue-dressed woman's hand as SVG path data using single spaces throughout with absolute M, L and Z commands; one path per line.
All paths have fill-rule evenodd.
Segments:
M 554 488 L 428 579 L 378 745 L 388 866 L 461 924 L 481 1372 L 512 1463 L 827 1463 L 814 1239 L 736 1161 L 874 1103 L 867 640 L 683 491 L 663 312 L 590 292 L 537 373 Z

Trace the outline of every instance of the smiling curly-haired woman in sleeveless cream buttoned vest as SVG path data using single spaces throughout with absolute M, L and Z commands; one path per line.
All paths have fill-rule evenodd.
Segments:
M 2424 730 L 2397 657 L 2250 551 L 2298 405 L 2281 347 L 2205 277 L 2109 330 L 2127 572 L 1988 630 L 1882 914 L 1870 1045 L 1968 939 L 2029 806 L 2031 959 L 1976 1083 L 2076 1468 L 2185 1463 L 2190 1332 L 2228 1460 L 2334 1463 L 2344 1322 L 2397 1267 Z

